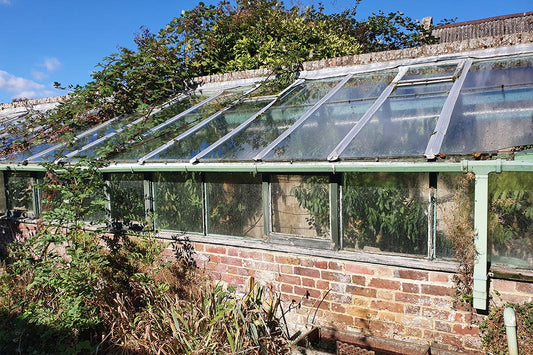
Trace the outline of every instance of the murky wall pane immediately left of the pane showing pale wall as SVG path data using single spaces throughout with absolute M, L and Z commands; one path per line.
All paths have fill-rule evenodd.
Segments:
M 261 177 L 252 174 L 208 174 L 207 233 L 263 237 Z

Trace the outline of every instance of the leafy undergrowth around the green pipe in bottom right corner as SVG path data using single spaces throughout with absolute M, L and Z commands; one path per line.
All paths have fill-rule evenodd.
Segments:
M 518 349 L 521 354 L 533 353 L 533 303 L 507 303 L 500 307 L 493 307 L 489 315 L 480 324 L 481 337 L 485 351 L 489 354 L 508 354 L 507 336 L 503 319 L 505 308 L 515 310 Z

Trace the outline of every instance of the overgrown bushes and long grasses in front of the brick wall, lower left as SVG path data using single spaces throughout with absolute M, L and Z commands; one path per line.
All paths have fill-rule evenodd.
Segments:
M 186 240 L 176 237 L 170 262 L 149 234 L 88 230 L 84 221 L 105 206 L 103 180 L 100 163 L 79 164 L 48 166 L 42 223 L 9 245 L 1 353 L 287 352 L 276 294 L 253 280 L 244 296 L 213 284 Z

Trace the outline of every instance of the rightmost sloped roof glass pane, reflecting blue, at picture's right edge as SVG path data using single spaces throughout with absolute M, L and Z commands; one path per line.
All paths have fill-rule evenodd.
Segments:
M 533 144 L 533 57 L 474 63 L 441 151 L 495 152 Z

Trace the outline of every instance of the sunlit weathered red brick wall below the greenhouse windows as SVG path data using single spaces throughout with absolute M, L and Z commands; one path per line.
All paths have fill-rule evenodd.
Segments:
M 309 327 L 316 311 L 314 324 L 325 329 L 481 353 L 476 321 L 483 316 L 452 308 L 453 273 L 194 245 L 200 266 L 215 280 L 243 290 L 254 277 L 281 292 L 287 304 L 301 300 L 302 308 L 289 314 L 295 327 Z M 502 300 L 531 301 L 533 284 L 493 280 L 492 285 Z

